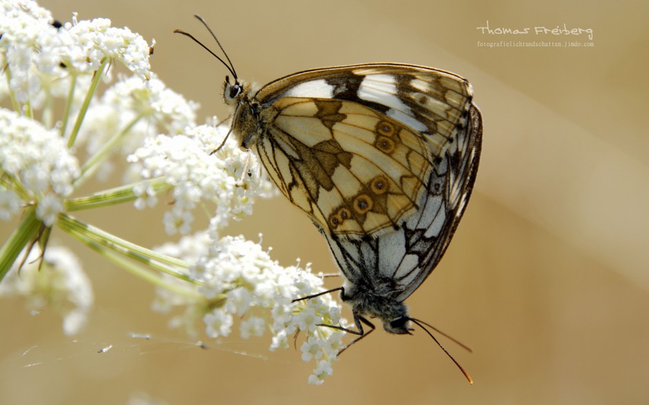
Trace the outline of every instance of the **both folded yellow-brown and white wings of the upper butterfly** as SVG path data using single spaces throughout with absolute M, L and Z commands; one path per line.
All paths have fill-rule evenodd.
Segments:
M 420 66 L 300 72 L 256 93 L 265 133 L 255 148 L 320 228 L 380 235 L 420 209 L 432 171 L 467 126 L 471 97 L 465 79 Z

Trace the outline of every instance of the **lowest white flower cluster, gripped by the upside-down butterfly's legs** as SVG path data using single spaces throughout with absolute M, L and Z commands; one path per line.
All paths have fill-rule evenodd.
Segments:
M 318 325 L 338 326 L 345 321 L 340 317 L 340 304 L 331 295 L 293 302 L 322 291 L 322 278 L 313 275 L 308 265 L 284 268 L 271 260 L 260 244 L 230 236 L 211 241 L 206 233 L 183 237 L 180 244 L 158 250 L 195 263 L 189 275 L 200 281 L 197 288 L 204 298 L 182 300 L 158 289 L 155 309 L 167 312 L 186 306 L 184 314 L 173 319 L 173 326 L 184 326 L 193 333 L 194 323 L 202 319 L 206 334 L 218 338 L 229 336 L 235 319 L 243 319 L 240 335 L 248 339 L 269 330 L 271 350 L 288 348 L 289 336 L 299 331 L 305 336 L 302 359 L 317 364 L 309 382 L 322 384 L 331 375 L 345 333 Z

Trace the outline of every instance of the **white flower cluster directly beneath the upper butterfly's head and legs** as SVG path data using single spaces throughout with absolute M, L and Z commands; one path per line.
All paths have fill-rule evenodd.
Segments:
M 227 126 L 202 125 L 187 128 L 184 135 L 168 137 L 158 135 L 145 140 L 128 161 L 141 165 L 144 179 L 165 177 L 173 186 L 173 207 L 164 215 L 164 225 L 169 235 L 187 235 L 194 219 L 192 210 L 202 202 L 216 204 L 211 219 L 211 236 L 217 238 L 220 228 L 229 219 L 240 219 L 252 213 L 253 197 L 273 194 L 269 181 L 258 171 L 240 181 L 242 171 L 258 167 L 255 156 L 226 143 L 211 154 L 226 137 Z M 142 198 L 148 194 L 138 189 Z M 144 206 L 136 201 L 136 206 Z

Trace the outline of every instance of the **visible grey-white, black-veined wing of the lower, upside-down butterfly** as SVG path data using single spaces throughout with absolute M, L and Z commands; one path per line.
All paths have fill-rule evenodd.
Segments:
M 456 148 L 430 173 L 420 209 L 398 230 L 354 240 L 323 232 L 353 288 L 403 302 L 434 270 L 452 239 L 471 195 L 481 150 L 479 110 L 457 133 Z M 350 292 L 353 294 L 353 292 Z

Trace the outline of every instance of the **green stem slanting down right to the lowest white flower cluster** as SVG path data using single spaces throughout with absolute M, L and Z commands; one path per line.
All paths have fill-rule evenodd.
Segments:
M 70 217 L 66 214 L 59 215 L 59 221 L 57 225 L 61 230 L 69 233 L 73 237 L 76 237 L 81 241 L 81 243 L 90 246 L 90 244 L 99 244 L 110 250 L 113 250 L 117 253 L 121 253 L 126 257 L 135 259 L 146 266 L 151 267 L 155 270 L 159 270 L 162 273 L 168 275 L 173 275 L 178 279 L 188 281 L 192 284 L 198 284 L 195 279 L 192 279 L 188 275 L 180 273 L 177 268 L 186 269 L 189 267 L 188 262 L 175 257 L 162 255 L 153 250 L 143 248 L 136 244 L 132 244 L 129 241 L 111 235 L 110 233 L 105 232 L 95 226 L 86 224 L 78 219 Z

